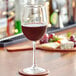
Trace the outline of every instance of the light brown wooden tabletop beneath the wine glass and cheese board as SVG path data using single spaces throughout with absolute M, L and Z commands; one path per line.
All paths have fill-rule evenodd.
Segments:
M 36 50 L 36 59 L 38 66 L 50 71 L 48 76 L 76 76 L 75 52 L 57 53 Z M 20 76 L 18 70 L 31 65 L 32 50 L 7 52 L 6 48 L 0 48 L 0 76 Z

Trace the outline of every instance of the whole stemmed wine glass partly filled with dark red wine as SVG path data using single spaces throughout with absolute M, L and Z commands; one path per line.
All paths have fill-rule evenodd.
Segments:
M 21 15 L 22 31 L 25 37 L 33 41 L 33 65 L 23 69 L 24 74 L 45 74 L 44 68 L 38 67 L 35 61 L 35 42 L 45 33 L 47 28 L 47 16 L 45 6 L 29 4 L 25 5 Z

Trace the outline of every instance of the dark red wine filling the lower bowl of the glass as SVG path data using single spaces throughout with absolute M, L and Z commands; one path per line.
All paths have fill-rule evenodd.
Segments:
M 45 33 L 46 25 L 44 24 L 22 25 L 22 31 L 29 40 L 36 41 L 39 40 Z

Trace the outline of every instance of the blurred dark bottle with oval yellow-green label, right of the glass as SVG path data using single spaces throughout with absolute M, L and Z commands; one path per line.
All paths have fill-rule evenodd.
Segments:
M 49 22 L 53 27 L 59 27 L 58 23 L 58 9 L 57 3 L 54 0 L 49 1 Z

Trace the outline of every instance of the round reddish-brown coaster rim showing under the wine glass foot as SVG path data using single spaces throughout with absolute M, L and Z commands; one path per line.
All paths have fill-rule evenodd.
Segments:
M 28 74 L 28 73 L 25 73 L 23 71 L 23 69 L 19 70 L 19 74 L 22 75 L 22 76 L 46 76 L 48 75 L 49 71 L 46 70 L 45 72 L 41 72 L 41 73 L 37 73 L 37 74 Z

